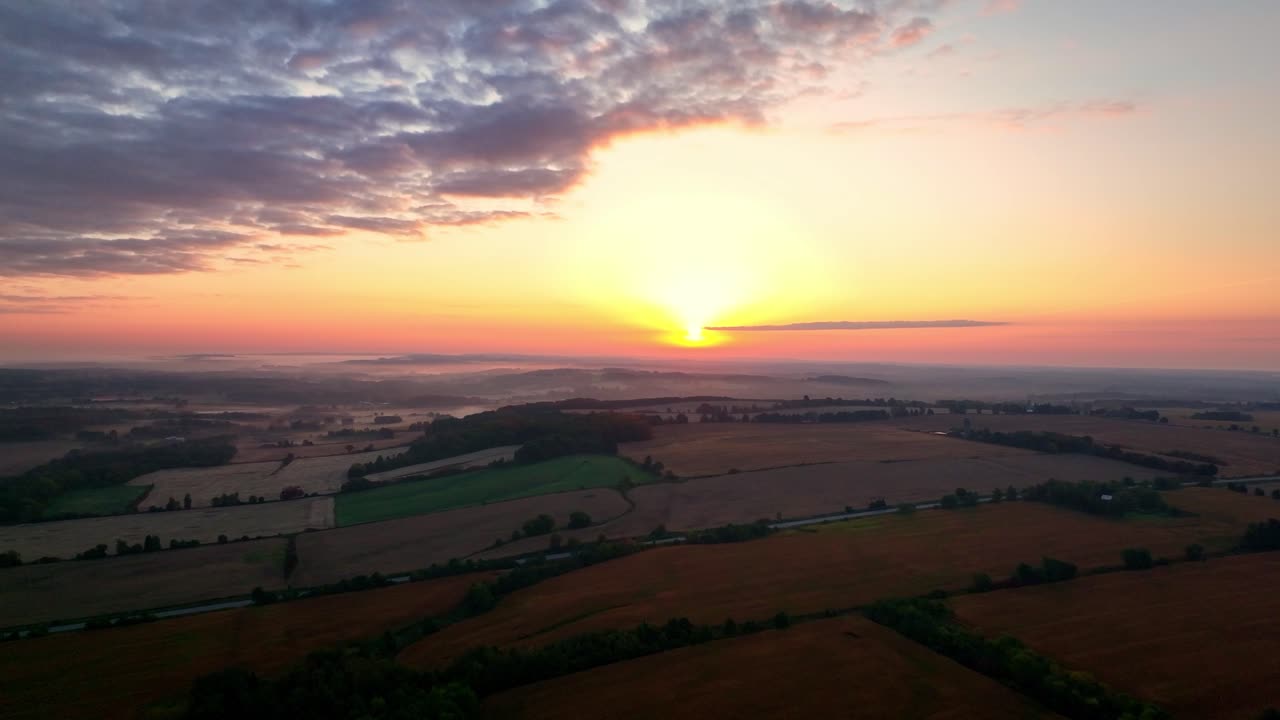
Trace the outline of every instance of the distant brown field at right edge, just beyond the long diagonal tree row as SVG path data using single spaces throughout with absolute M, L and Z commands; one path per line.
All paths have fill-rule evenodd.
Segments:
M 1085 418 L 1080 415 L 968 415 L 974 428 L 1001 432 L 1038 430 L 1073 436 L 1092 436 L 1106 445 L 1121 445 L 1130 450 L 1167 454 L 1171 450 L 1212 455 L 1226 461 L 1221 477 L 1262 475 L 1280 470 L 1280 439 L 1263 434 L 1144 420 L 1116 420 Z M 901 427 L 946 430 L 961 423 L 955 415 L 933 415 L 896 420 Z M 963 442 L 963 441 L 957 441 Z M 986 443 L 973 443 L 986 445 Z

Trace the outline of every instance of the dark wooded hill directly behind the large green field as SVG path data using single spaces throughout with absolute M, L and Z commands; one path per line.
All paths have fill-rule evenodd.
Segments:
M 620 442 L 650 437 L 653 428 L 643 415 L 494 410 L 466 418 L 436 418 L 426 425 L 425 434 L 413 441 L 403 454 L 379 457 L 374 462 L 356 462 L 347 477 L 362 478 L 369 473 L 433 462 L 503 445 L 521 446 L 516 451 L 516 462 L 534 462 L 579 452 L 614 455 Z

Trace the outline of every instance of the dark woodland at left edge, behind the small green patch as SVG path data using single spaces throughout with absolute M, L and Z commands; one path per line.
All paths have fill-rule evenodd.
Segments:
M 20 475 L 0 478 L 0 521 L 42 520 L 49 503 L 64 492 L 119 486 L 169 468 L 223 465 L 234 456 L 236 445 L 227 437 L 93 452 L 73 450 Z

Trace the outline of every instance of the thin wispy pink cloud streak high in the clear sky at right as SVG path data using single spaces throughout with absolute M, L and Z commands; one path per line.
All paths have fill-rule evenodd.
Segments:
M 941 129 L 947 126 L 973 126 L 995 129 L 1023 131 L 1050 126 L 1060 120 L 1111 119 L 1133 115 L 1139 106 L 1129 100 L 1089 100 L 1084 102 L 1056 102 L 1051 105 L 1004 108 L 983 113 L 942 113 L 936 115 L 899 115 L 846 120 L 831 126 L 832 132 L 847 133 L 869 129 L 919 132 Z

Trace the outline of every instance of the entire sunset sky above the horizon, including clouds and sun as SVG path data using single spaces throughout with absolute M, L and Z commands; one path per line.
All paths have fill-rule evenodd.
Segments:
M 0 0 L 0 363 L 1280 370 L 1280 4 Z

